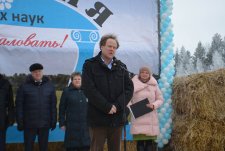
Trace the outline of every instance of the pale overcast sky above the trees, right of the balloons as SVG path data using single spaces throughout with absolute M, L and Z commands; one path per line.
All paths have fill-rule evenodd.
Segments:
M 173 0 L 172 22 L 175 50 L 183 45 L 193 54 L 199 41 L 225 36 L 225 0 Z

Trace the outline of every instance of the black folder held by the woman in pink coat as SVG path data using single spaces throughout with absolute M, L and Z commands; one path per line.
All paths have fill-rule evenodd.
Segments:
M 130 112 L 134 116 L 134 118 L 138 118 L 152 111 L 152 109 L 147 107 L 146 104 L 149 104 L 147 98 L 130 105 Z

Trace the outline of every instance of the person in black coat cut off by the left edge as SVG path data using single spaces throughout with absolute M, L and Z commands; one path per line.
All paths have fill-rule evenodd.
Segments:
M 0 74 L 0 151 L 5 151 L 6 129 L 15 120 L 12 86 Z

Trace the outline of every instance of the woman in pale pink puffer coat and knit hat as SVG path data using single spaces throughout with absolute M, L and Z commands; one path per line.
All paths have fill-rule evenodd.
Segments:
M 137 151 L 156 151 L 155 139 L 159 135 L 159 120 L 156 109 L 163 104 L 163 96 L 157 81 L 148 67 L 142 67 L 139 74 L 132 78 L 134 94 L 128 106 L 148 98 L 147 107 L 153 111 L 134 118 L 131 116 L 131 134 L 137 141 Z

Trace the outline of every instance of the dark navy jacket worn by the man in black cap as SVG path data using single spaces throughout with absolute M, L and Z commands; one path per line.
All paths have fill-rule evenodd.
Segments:
M 35 83 L 31 76 L 16 96 L 16 120 L 20 128 L 54 128 L 56 126 L 56 94 L 47 77 Z

